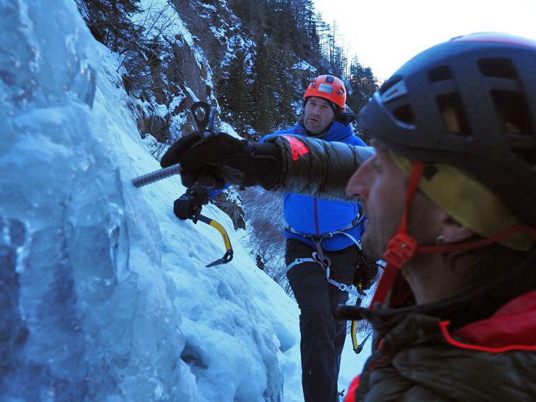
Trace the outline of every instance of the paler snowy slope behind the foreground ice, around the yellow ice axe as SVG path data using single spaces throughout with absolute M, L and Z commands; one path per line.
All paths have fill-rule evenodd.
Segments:
M 106 60 L 111 63 L 112 58 Z M 128 109 L 121 108 L 121 119 L 117 119 L 117 110 L 113 112 L 112 121 L 110 100 L 119 95 L 112 84 L 116 80 L 114 68 L 105 63 L 101 73 L 108 75 L 108 80 L 99 80 L 94 108 L 114 126 L 117 149 L 124 149 L 120 153 L 127 158 L 126 176 L 158 169 L 158 162 L 138 140 Z M 127 177 L 125 186 L 129 186 Z M 195 376 L 197 396 L 192 400 L 262 401 L 267 387 L 272 387 L 268 394 L 275 399 L 285 378 L 284 400 L 300 401 L 297 306 L 255 267 L 234 237 L 230 218 L 212 205 L 204 207 L 203 213 L 230 233 L 234 259 L 228 265 L 204 267 L 221 258 L 225 248 L 214 228 L 174 216 L 172 202 L 185 190 L 179 177 L 131 189 L 137 192 L 136 198 L 142 196 L 147 209 L 137 214 L 148 214 L 158 223 L 161 269 L 170 278 L 167 286 L 173 288 L 173 303 L 181 316 L 180 332 L 185 337 L 182 357 Z M 138 250 L 134 253 L 143 254 Z M 147 259 L 142 261 L 139 269 L 146 271 Z

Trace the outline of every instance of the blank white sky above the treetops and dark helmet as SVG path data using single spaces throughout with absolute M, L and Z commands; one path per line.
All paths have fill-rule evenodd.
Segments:
M 536 39 L 536 0 L 313 0 L 336 20 L 349 57 L 387 80 L 412 56 L 461 34 L 496 31 Z

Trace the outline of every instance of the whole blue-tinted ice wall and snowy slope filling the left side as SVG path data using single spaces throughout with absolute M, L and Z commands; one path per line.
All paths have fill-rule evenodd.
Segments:
M 159 165 L 75 3 L 2 7 L 0 399 L 302 401 L 297 305 L 214 206 L 234 259 L 205 267 L 223 241 L 174 216 L 179 177 L 131 185 Z

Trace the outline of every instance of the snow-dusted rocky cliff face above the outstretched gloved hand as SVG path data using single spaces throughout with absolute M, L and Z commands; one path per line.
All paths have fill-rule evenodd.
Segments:
M 132 18 L 144 29 L 136 51 L 124 52 L 124 85 L 136 99 L 140 134 L 170 143 L 193 131 L 193 102 L 221 112 L 216 82 L 237 48 L 251 53 L 255 43 L 225 0 L 151 1 Z

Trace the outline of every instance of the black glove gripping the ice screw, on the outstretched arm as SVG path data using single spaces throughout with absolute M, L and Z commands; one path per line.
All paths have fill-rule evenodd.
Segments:
M 281 176 L 281 150 L 273 143 L 256 144 L 225 133 L 202 139 L 200 133 L 186 135 L 165 153 L 161 166 L 181 164 L 182 183 L 199 182 L 206 188 L 227 184 L 274 188 Z

